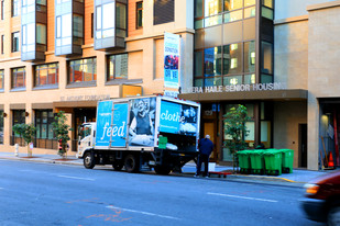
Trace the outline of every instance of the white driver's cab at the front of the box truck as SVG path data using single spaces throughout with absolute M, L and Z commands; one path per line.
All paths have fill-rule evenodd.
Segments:
M 95 146 L 96 123 L 84 123 L 78 127 L 78 152 L 77 157 L 83 158 L 86 150 Z

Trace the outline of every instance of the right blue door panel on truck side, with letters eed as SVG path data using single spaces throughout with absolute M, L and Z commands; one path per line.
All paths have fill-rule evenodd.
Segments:
M 111 147 L 127 147 L 128 103 L 113 103 Z

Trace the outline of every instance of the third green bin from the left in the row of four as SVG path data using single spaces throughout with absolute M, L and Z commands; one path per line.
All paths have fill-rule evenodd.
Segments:
M 264 152 L 265 173 L 282 174 L 282 151 L 277 149 L 267 149 Z

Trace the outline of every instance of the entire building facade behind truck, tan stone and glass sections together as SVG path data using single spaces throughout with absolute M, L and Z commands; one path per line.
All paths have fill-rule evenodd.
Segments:
M 339 0 L 1 1 L 0 151 L 33 123 L 33 152 L 55 154 L 51 123 L 77 126 L 98 100 L 164 93 L 164 32 L 180 35 L 179 98 L 201 103 L 211 160 L 228 165 L 223 115 L 251 120 L 249 148 L 294 149 L 294 167 L 339 165 Z M 23 147 L 22 147 L 23 148 Z

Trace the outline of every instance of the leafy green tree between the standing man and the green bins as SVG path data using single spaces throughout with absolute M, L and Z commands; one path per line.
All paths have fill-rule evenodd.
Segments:
M 230 149 L 232 154 L 232 166 L 234 169 L 235 154 L 246 147 L 244 137 L 248 135 L 245 123 L 250 121 L 246 108 L 239 104 L 239 106 L 231 108 L 224 115 L 224 135 L 229 138 L 224 142 L 224 146 Z

